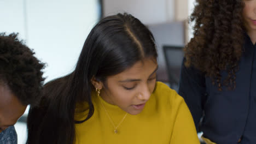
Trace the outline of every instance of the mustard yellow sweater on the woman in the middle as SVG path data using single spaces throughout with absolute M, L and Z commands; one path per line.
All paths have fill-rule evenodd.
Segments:
M 141 113 L 127 114 L 117 134 L 114 133 L 114 127 L 100 99 L 92 92 L 94 115 L 84 123 L 75 124 L 75 143 L 200 143 L 193 118 L 183 98 L 164 83 L 156 83 L 155 91 Z M 117 125 L 126 112 L 101 100 Z M 83 114 L 86 113 L 88 111 Z

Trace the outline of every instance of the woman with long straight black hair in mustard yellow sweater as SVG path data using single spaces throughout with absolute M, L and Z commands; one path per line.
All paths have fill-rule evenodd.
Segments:
M 156 82 L 154 37 L 129 14 L 102 19 L 75 70 L 46 83 L 27 143 L 199 143 L 182 97 Z

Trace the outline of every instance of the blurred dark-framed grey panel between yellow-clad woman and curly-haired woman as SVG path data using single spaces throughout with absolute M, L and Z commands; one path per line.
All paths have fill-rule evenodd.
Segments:
M 181 65 L 183 61 L 183 47 L 164 45 L 164 56 L 168 73 L 168 83 L 173 89 L 178 89 L 179 74 L 181 73 Z

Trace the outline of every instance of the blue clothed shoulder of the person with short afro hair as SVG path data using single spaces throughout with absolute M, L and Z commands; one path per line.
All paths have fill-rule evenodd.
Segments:
M 0 133 L 0 143 L 1 144 L 16 144 L 17 134 L 14 126 L 9 127 Z

